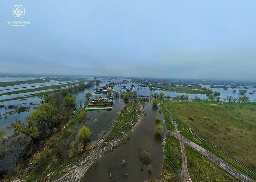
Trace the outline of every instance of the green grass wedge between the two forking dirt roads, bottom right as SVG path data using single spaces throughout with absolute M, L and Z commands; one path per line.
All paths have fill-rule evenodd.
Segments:
M 194 149 L 189 146 L 185 146 L 185 148 L 188 172 L 192 181 L 239 181 Z

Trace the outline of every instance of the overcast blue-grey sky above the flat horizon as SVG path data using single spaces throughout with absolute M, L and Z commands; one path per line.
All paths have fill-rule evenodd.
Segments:
M 255 80 L 255 0 L 0 5 L 0 73 Z

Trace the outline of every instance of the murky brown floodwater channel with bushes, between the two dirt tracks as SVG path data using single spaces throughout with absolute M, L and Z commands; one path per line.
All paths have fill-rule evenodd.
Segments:
M 159 114 L 158 108 L 152 107 L 151 102 L 145 105 L 145 113 L 146 116 L 144 116 L 126 144 L 99 160 L 97 167 L 92 167 L 87 171 L 83 182 L 110 181 L 110 173 L 112 179 L 117 176 L 116 181 L 144 181 L 160 176 L 163 160 L 163 146 L 161 143 L 166 133 L 166 125 L 163 123 L 164 116 Z M 155 122 L 156 115 L 161 118 L 160 123 Z M 154 131 L 157 124 L 164 127 L 164 132 L 160 137 L 155 135 Z M 142 164 L 139 160 L 140 149 L 147 150 L 151 155 L 151 165 L 153 167 L 151 176 L 147 172 L 148 165 Z M 123 158 L 127 161 L 125 166 L 121 163 Z

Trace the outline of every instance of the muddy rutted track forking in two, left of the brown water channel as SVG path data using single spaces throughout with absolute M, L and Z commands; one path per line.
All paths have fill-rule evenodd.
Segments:
M 138 121 L 134 125 L 134 127 L 129 131 L 127 134 L 124 134 L 120 136 L 117 139 L 109 141 L 104 148 L 102 148 L 102 144 L 104 141 L 108 138 L 109 134 L 111 133 L 112 129 L 115 126 L 115 122 L 117 122 L 120 112 L 115 117 L 114 121 L 111 123 L 110 127 L 107 129 L 107 131 L 101 136 L 99 139 L 99 142 L 92 148 L 90 153 L 87 155 L 84 155 L 83 158 L 78 160 L 73 166 L 67 169 L 65 174 L 59 178 L 56 179 L 56 182 L 66 182 L 66 181 L 72 181 L 72 182 L 79 182 L 83 180 L 84 175 L 86 172 L 91 168 L 91 166 L 97 161 L 100 160 L 104 154 L 106 154 L 109 150 L 116 148 L 119 143 L 121 143 L 124 139 L 129 138 L 129 134 L 133 133 L 137 126 L 141 123 L 144 113 L 144 108 L 142 104 L 139 104 L 140 108 L 140 115 L 138 118 Z

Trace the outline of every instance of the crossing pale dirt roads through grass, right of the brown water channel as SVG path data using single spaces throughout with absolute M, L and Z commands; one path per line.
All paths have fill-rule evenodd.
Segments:
M 170 113 L 171 117 L 170 117 L 170 121 L 172 122 L 173 126 L 174 126 L 174 131 L 170 131 L 167 130 L 167 134 L 170 134 L 172 136 L 174 136 L 175 138 L 178 139 L 179 143 L 180 143 L 180 147 L 181 147 L 181 153 L 182 153 L 182 169 L 180 171 L 180 178 L 182 181 L 191 181 L 191 178 L 189 177 L 189 173 L 187 170 L 187 157 L 186 157 L 186 151 L 184 152 L 183 150 L 185 150 L 185 146 L 184 144 L 190 146 L 191 148 L 193 148 L 195 151 L 199 152 L 200 154 L 202 154 L 204 157 L 206 157 L 207 159 L 211 160 L 214 164 L 216 164 L 217 166 L 219 166 L 220 168 L 224 169 L 225 171 L 227 171 L 229 174 L 231 174 L 232 176 L 238 178 L 241 181 L 244 182 L 252 182 L 255 181 L 253 180 L 251 177 L 247 176 L 246 174 L 242 173 L 240 170 L 234 168 L 232 165 L 228 164 L 227 162 L 225 162 L 224 160 L 222 160 L 221 158 L 217 157 L 216 155 L 214 155 L 213 153 L 207 151 L 206 149 L 204 149 L 203 147 L 201 147 L 200 145 L 192 142 L 191 140 L 187 139 L 185 136 L 183 136 L 182 134 L 180 134 L 178 132 L 178 126 L 175 123 L 175 121 L 172 119 L 172 113 L 166 108 L 166 106 L 161 102 L 161 104 L 165 107 L 165 109 L 167 110 L 167 112 Z M 182 144 L 181 144 L 182 143 Z M 185 154 L 185 155 L 184 155 Z M 185 158 L 185 159 L 184 159 Z M 186 164 L 184 164 L 184 162 Z M 189 178 L 188 178 L 189 177 Z

